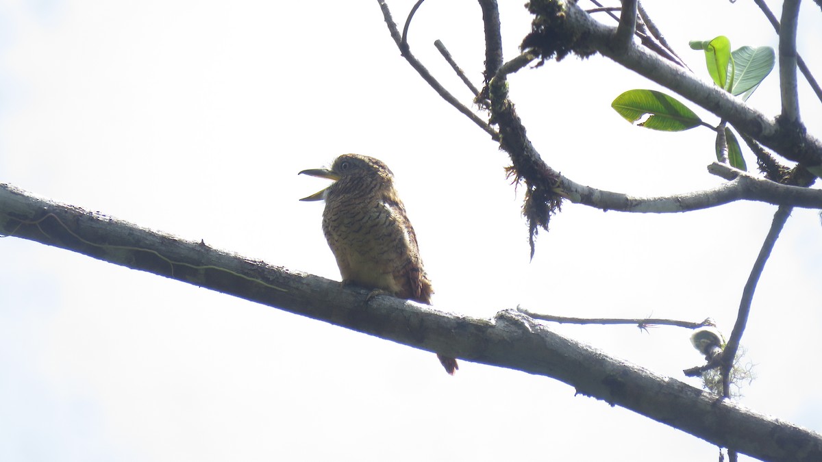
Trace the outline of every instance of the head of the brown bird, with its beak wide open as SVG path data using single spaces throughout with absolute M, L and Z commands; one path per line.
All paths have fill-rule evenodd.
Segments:
M 330 195 L 374 194 L 394 187 L 394 173 L 381 160 L 367 155 L 340 155 L 330 169 L 308 169 L 300 173 L 334 180 L 326 189 L 303 197 L 300 201 L 322 201 Z

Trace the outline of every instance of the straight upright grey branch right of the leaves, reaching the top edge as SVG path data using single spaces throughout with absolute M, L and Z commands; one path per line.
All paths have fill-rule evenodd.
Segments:
M 797 87 L 797 23 L 799 0 L 782 4 L 782 25 L 779 28 L 779 89 L 782 94 L 782 117 L 799 122 L 799 89 Z

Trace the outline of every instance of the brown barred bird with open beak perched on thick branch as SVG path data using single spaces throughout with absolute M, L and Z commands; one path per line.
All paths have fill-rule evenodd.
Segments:
M 322 231 L 344 284 L 430 305 L 433 289 L 419 257 L 417 235 L 386 164 L 366 155 L 344 154 L 330 169 L 300 173 L 335 180 L 301 201 L 326 201 Z M 436 356 L 453 375 L 456 359 Z

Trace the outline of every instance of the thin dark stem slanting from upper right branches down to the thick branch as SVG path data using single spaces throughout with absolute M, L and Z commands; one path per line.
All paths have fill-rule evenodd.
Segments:
M 774 250 L 774 244 L 776 244 L 776 241 L 779 238 L 779 233 L 782 232 L 788 217 L 791 216 L 791 210 L 793 209 L 789 206 L 780 206 L 776 210 L 776 213 L 774 214 L 774 221 L 771 223 L 770 230 L 768 231 L 768 236 L 765 237 L 764 243 L 762 243 L 762 248 L 760 249 L 760 254 L 756 257 L 754 266 L 750 269 L 750 275 L 748 276 L 748 280 L 745 284 L 745 289 L 742 289 L 742 298 L 739 303 L 737 322 L 733 326 L 731 337 L 725 345 L 725 351 L 723 351 L 723 397 L 725 398 L 730 396 L 730 383 L 728 382 L 728 377 L 730 377 L 731 368 L 733 367 L 733 359 L 737 357 L 737 350 L 739 349 L 739 342 L 742 339 L 742 334 L 745 332 L 745 328 L 748 324 L 750 303 L 754 299 L 756 284 L 759 283 L 765 263 L 768 261 L 771 251 Z

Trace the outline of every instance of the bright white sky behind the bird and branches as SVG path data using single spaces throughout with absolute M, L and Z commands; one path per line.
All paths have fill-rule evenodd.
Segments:
M 297 173 L 374 155 L 397 176 L 441 309 L 711 316 L 731 330 L 774 206 L 566 204 L 529 262 L 506 155 L 399 57 L 376 2 L 269 3 L 0 0 L 0 182 L 339 279 L 321 204 L 298 201 L 326 182 Z M 502 3 L 512 58 L 529 16 Z M 820 77 L 822 21 L 805 3 L 800 51 Z M 412 4 L 390 2 L 395 19 Z M 750 2 L 672 4 L 645 7 L 705 79 L 690 39 L 776 44 Z M 410 30 L 469 102 L 434 39 L 480 85 L 476 2 L 430 0 Z M 778 113 L 777 85 L 774 72 L 750 103 Z M 636 195 L 720 182 L 705 171 L 711 132 L 649 132 L 610 109 L 657 88 L 612 62 L 549 62 L 511 87 L 535 146 L 577 182 Z M 797 210 L 774 250 L 744 339 L 759 378 L 742 399 L 816 431 L 820 233 L 819 215 Z M 466 362 L 449 377 L 432 353 L 275 308 L 16 238 L 0 252 L 3 461 L 716 460 L 704 441 L 546 377 Z M 678 380 L 701 359 L 685 330 L 552 328 Z

